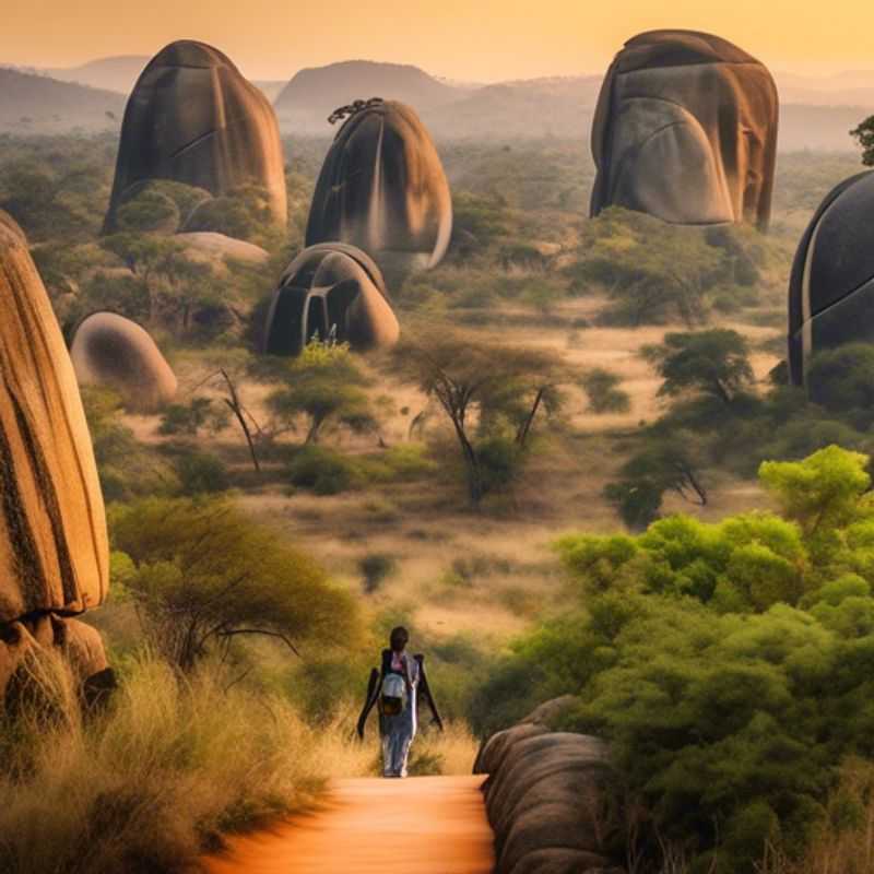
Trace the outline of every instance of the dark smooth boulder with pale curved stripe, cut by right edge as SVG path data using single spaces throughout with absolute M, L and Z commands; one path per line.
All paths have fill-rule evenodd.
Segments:
M 804 385 L 811 356 L 874 342 L 874 172 L 842 181 L 801 238 L 789 282 L 789 368 Z

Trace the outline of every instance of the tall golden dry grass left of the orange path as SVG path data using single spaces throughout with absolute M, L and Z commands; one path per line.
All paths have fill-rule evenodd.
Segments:
M 3 872 L 196 871 L 222 832 L 306 807 L 327 777 L 369 765 L 336 725 L 317 732 L 280 698 L 149 657 L 90 718 L 50 657 L 29 688 L 38 704 L 0 727 Z

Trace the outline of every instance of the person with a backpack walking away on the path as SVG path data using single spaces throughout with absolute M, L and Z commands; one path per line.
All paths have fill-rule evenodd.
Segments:
M 382 666 L 374 668 L 367 686 L 367 699 L 358 717 L 358 737 L 364 740 L 364 727 L 375 704 L 379 711 L 379 735 L 382 739 L 382 776 L 406 777 L 410 745 L 416 734 L 420 696 L 434 714 L 434 724 L 442 731 L 444 723 L 425 676 L 424 656 L 406 651 L 410 633 L 399 626 L 389 636 L 389 649 L 382 650 Z

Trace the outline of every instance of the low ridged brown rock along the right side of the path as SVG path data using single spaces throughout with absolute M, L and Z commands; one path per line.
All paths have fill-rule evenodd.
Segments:
M 535 711 L 529 720 L 539 718 Z M 474 772 L 489 775 L 483 793 L 496 874 L 623 874 L 611 861 L 618 816 L 597 737 L 527 720 L 493 735 Z

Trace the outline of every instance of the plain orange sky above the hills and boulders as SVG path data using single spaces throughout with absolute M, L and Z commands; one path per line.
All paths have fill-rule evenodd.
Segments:
M 250 78 L 347 58 L 495 81 L 600 72 L 653 27 L 717 33 L 772 69 L 874 69 L 870 0 L 4 0 L 0 63 L 61 67 L 153 55 L 191 37 Z M 220 10 L 224 9 L 224 12 Z M 402 10 L 402 11 L 399 11 Z

